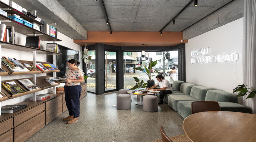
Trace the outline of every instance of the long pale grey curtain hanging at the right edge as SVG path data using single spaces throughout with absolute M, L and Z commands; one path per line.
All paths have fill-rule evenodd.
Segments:
M 256 0 L 244 0 L 244 29 L 243 29 L 243 84 L 256 89 Z M 247 99 L 246 105 L 256 114 L 256 97 Z

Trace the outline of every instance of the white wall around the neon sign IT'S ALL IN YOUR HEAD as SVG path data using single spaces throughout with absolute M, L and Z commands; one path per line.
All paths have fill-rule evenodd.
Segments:
M 243 18 L 186 43 L 186 82 L 227 92 L 242 84 Z M 238 53 L 238 61 L 191 64 L 191 51 L 210 47 L 211 55 Z

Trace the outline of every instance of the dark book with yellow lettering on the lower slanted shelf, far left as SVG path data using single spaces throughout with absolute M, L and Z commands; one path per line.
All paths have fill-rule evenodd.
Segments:
M 20 93 L 24 93 L 25 92 L 25 90 L 23 90 L 14 81 L 3 82 L 2 83 L 2 87 L 3 87 L 3 89 L 5 89 L 11 95 L 16 95 L 16 94 L 20 94 Z

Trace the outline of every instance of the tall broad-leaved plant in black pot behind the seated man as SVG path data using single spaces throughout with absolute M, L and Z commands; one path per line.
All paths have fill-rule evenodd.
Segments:
M 146 66 L 144 66 L 145 71 L 144 71 L 144 69 L 141 68 L 141 67 L 135 67 L 135 68 L 133 68 L 133 69 L 135 69 L 135 70 L 139 70 L 139 71 L 145 72 L 145 73 L 148 75 L 148 77 L 149 77 L 149 80 L 147 81 L 148 87 L 152 87 L 152 86 L 155 85 L 155 81 L 153 81 L 153 74 L 154 74 L 154 72 L 151 74 L 151 70 L 152 70 L 152 68 L 153 68 L 156 64 L 157 64 L 157 61 L 150 61 L 148 68 L 147 68 Z

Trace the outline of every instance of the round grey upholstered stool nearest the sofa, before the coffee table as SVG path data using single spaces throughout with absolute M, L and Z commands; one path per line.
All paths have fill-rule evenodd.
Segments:
M 145 95 L 143 97 L 143 110 L 156 112 L 158 110 L 158 98 L 155 95 Z

